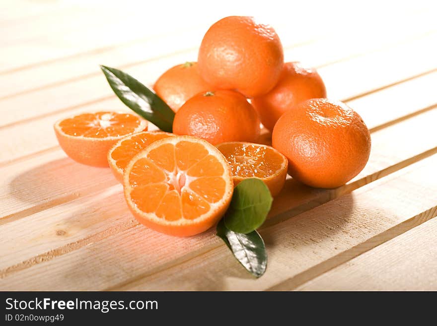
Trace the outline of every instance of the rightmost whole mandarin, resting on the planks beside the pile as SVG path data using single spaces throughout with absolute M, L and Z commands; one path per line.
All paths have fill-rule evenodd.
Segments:
M 284 113 L 272 143 L 288 158 L 289 174 L 316 188 L 344 185 L 370 154 L 370 133 L 360 115 L 328 99 L 311 99 Z

